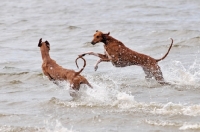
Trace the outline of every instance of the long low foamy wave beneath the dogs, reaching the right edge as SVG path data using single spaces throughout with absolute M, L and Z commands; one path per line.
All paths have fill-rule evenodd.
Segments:
M 63 101 L 53 97 L 49 102 L 62 106 L 62 107 L 108 107 L 114 108 L 116 112 L 143 112 L 153 115 L 185 115 L 185 116 L 200 116 L 200 105 L 184 105 L 168 102 L 166 104 L 156 102 L 137 102 L 134 100 L 134 96 L 120 93 L 116 95 L 116 99 L 110 102 L 99 101 L 91 99 L 90 97 L 86 100 L 76 101 Z M 90 99 L 89 99 L 90 98 Z M 102 97 L 101 100 L 104 100 Z M 114 111 L 112 109 L 112 111 Z

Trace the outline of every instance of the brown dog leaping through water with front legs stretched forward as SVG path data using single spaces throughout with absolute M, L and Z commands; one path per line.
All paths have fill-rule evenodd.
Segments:
M 95 65 L 95 70 L 98 68 L 98 64 L 100 62 L 112 62 L 115 67 L 125 67 L 130 65 L 138 65 L 141 66 L 146 74 L 145 78 L 150 79 L 154 77 L 160 84 L 167 84 L 164 81 L 162 72 L 160 67 L 158 66 L 157 62 L 163 60 L 169 53 L 172 43 L 167 51 L 167 53 L 161 59 L 154 59 L 148 55 L 141 54 L 135 52 L 128 47 L 126 47 L 122 42 L 119 40 L 109 36 L 110 32 L 107 34 L 102 33 L 101 31 L 96 31 L 94 34 L 94 39 L 92 40 L 92 44 L 95 45 L 96 43 L 103 42 L 104 43 L 104 54 L 88 52 L 84 53 L 80 56 L 84 56 L 86 54 L 94 55 L 101 58 Z

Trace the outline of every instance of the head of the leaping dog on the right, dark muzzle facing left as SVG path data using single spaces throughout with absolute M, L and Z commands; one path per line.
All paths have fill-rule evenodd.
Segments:
M 99 43 L 99 42 L 105 43 L 106 38 L 107 38 L 107 36 L 109 36 L 109 34 L 110 34 L 110 32 L 104 34 L 101 31 L 96 30 L 96 33 L 94 34 L 94 38 L 93 38 L 91 44 L 95 45 L 96 43 Z

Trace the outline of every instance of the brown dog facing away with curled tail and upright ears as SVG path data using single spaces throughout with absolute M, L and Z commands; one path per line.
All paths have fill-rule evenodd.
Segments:
M 50 58 L 49 56 L 50 44 L 48 41 L 42 42 L 41 38 L 39 40 L 38 47 L 40 47 L 43 59 L 43 64 L 42 64 L 43 73 L 49 78 L 50 81 L 53 81 L 55 84 L 57 84 L 57 81 L 68 81 L 70 83 L 70 87 L 73 88 L 74 90 L 79 90 L 80 84 L 87 84 L 89 87 L 92 88 L 87 79 L 80 75 L 80 73 L 86 66 L 86 61 L 84 58 L 79 57 L 84 60 L 84 66 L 79 72 L 75 72 L 74 70 L 68 70 L 59 66 L 56 63 L 56 61 Z M 76 64 L 79 58 L 76 59 Z

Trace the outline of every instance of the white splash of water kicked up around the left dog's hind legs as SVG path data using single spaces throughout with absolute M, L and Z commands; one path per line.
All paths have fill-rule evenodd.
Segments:
M 124 91 L 120 91 L 119 85 L 109 76 L 87 77 L 93 89 L 87 85 L 82 85 L 79 91 L 74 91 L 69 88 L 67 83 L 61 83 L 62 88 L 67 92 L 74 92 L 75 96 L 71 101 L 61 101 L 57 98 L 52 98 L 50 102 L 58 105 L 70 107 L 89 106 L 118 106 L 123 107 L 125 102 L 134 103 L 134 96 Z M 101 80 L 101 81 L 99 81 Z M 124 106 L 128 107 L 128 106 Z

